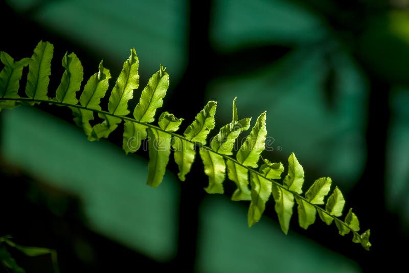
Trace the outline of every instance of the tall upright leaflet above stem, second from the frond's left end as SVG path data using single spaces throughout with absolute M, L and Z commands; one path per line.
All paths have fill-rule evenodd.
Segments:
M 50 83 L 49 76 L 51 75 L 53 52 L 54 45 L 43 41 L 40 41 L 34 49 L 26 84 L 26 94 L 30 99 L 48 100 L 47 92 Z

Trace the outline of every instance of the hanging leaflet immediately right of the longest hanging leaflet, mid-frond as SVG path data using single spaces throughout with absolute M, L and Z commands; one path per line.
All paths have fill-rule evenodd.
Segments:
M 195 145 L 180 138 L 173 138 L 172 148 L 174 150 L 175 162 L 179 168 L 177 176 L 180 181 L 186 180 L 186 175 L 190 172 L 195 160 Z

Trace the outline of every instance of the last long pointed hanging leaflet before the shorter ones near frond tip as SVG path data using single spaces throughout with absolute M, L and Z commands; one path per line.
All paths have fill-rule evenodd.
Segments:
M 294 206 L 294 195 L 291 192 L 283 190 L 278 185 L 273 184 L 272 196 L 276 201 L 274 208 L 278 215 L 281 230 L 287 234 L 292 216 L 292 207 Z

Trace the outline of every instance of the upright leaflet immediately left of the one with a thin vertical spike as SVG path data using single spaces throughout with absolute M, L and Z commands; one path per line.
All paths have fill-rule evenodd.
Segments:
M 209 101 L 205 108 L 196 115 L 193 123 L 184 132 L 188 140 L 206 145 L 206 138 L 210 130 L 215 126 L 214 115 L 216 113 L 216 106 L 216 101 Z

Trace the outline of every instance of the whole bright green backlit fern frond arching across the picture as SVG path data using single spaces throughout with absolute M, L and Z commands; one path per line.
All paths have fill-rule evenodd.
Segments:
M 285 234 L 289 229 L 294 203 L 297 203 L 298 220 L 303 229 L 314 223 L 318 214 L 328 225 L 335 222 L 340 235 L 352 232 L 352 241 L 369 250 L 370 230 L 359 234 L 359 221 L 352 209 L 348 210 L 344 220 L 339 218 L 343 215 L 345 200 L 338 187 L 335 187 L 324 201 L 331 190 L 331 178 L 316 179 L 303 194 L 304 170 L 296 155 L 291 153 L 288 158 L 287 174 L 282 183 L 278 181 L 284 172 L 283 164 L 272 163 L 261 157 L 267 135 L 266 112 L 262 112 L 257 118 L 235 154 L 233 148 L 239 134 L 248 130 L 252 121 L 251 118 L 238 118 L 236 98 L 233 100 L 232 122 L 220 128 L 212 138 L 210 146 L 207 146 L 207 138 L 215 127 L 216 101 L 209 101 L 183 134 L 176 131 L 184 119 L 176 118 L 168 111 L 159 115 L 155 125 L 153 122 L 156 110 L 162 107 L 169 87 L 169 75 L 160 65 L 160 69 L 152 75 L 142 90 L 139 103 L 134 107 L 132 115 L 129 115 L 128 102 L 132 99 L 134 90 L 139 87 L 139 60 L 135 49 L 131 49 L 130 52 L 105 107 L 101 105 L 101 99 L 106 95 L 111 75 L 103 66 L 103 61 L 99 64 L 98 72 L 85 83 L 78 100 L 77 92 L 83 81 L 83 67 L 74 53 L 66 53 L 62 58 L 65 71 L 61 82 L 56 89 L 55 97 L 49 98 L 53 44 L 40 41 L 31 58 L 19 61 L 14 61 L 10 55 L 2 51 L 0 60 L 4 67 L 0 72 L 0 109 L 39 103 L 69 107 L 73 111 L 74 122 L 84 130 L 90 141 L 108 138 L 109 134 L 124 122 L 122 148 L 125 153 L 136 152 L 142 141 L 148 140 L 147 184 L 152 187 L 161 184 L 171 150 L 174 151 L 173 157 L 181 181 L 185 181 L 190 172 L 198 150 L 205 174 L 209 176 L 206 192 L 224 193 L 223 182 L 227 173 L 227 177 L 237 186 L 231 199 L 250 201 L 247 214 L 249 226 L 260 220 L 265 204 L 272 195 L 280 226 Z M 28 74 L 25 96 L 20 97 L 20 79 L 26 66 Z M 95 119 L 95 115 L 98 115 L 102 122 L 92 125 L 91 121 Z M 324 204 L 325 206 L 320 206 Z

